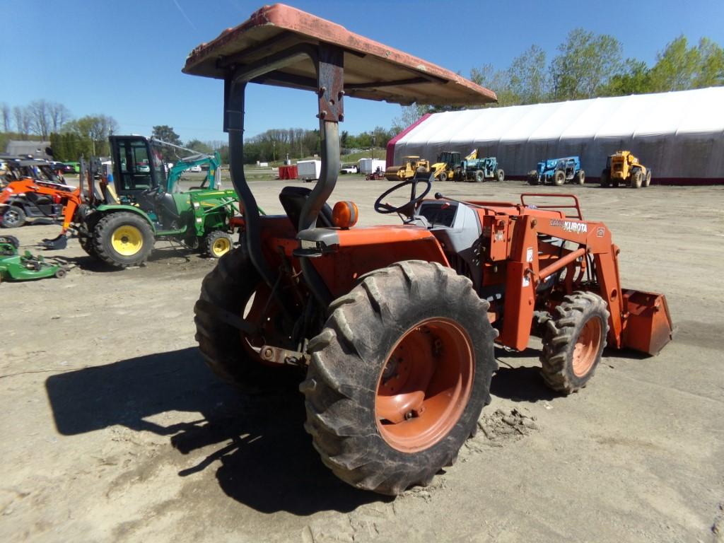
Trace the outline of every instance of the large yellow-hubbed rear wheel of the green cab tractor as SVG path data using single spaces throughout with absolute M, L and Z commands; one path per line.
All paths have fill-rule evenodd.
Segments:
M 127 211 L 109 213 L 93 228 L 96 256 L 114 268 L 143 264 L 153 251 L 153 241 L 148 221 Z

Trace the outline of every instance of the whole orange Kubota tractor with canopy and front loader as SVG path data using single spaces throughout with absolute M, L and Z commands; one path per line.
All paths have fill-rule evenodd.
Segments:
M 374 204 L 401 224 L 356 227 L 354 203 L 327 206 L 346 98 L 485 104 L 492 91 L 282 4 L 194 49 L 183 71 L 224 80 L 246 211 L 240 247 L 203 280 L 199 348 L 237 384 L 298 374 L 306 430 L 343 481 L 397 494 L 454 463 L 489 402 L 494 346 L 523 350 L 531 329 L 543 329 L 542 374 L 563 394 L 584 387 L 606 345 L 654 354 L 670 340 L 664 296 L 620 285 L 610 230 L 573 196 L 426 199 L 432 176 L 418 172 Z M 279 216 L 258 214 L 244 177 L 248 83 L 319 98 L 319 182 L 282 189 Z

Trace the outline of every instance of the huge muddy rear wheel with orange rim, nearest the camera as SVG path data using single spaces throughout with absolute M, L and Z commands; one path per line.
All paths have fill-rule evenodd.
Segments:
M 372 271 L 334 300 L 299 388 L 337 477 L 396 495 L 452 466 L 490 401 L 487 309 L 470 279 L 424 261 Z

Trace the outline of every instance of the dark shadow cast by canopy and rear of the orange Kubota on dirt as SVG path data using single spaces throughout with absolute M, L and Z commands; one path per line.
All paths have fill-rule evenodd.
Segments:
M 166 436 L 178 454 L 194 461 L 179 476 L 220 462 L 219 487 L 262 513 L 348 513 L 391 500 L 353 489 L 321 463 L 304 431 L 303 398 L 295 387 L 242 395 L 211 374 L 195 348 L 54 375 L 46 380 L 46 392 L 60 434 L 120 425 Z M 173 411 L 200 416 L 165 426 L 149 420 Z

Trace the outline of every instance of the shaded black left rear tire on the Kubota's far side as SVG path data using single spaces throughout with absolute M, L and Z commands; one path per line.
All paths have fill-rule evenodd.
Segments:
M 241 245 L 222 256 L 216 267 L 206 274 L 201 283 L 201 295 L 193 308 L 195 339 L 206 365 L 220 379 L 244 392 L 265 392 L 290 384 L 290 368 L 265 366 L 251 345 L 252 341 L 243 332 L 204 306 L 211 304 L 243 317 L 260 284 L 266 286 Z M 297 384 L 300 376 L 294 373 L 292 380 Z

